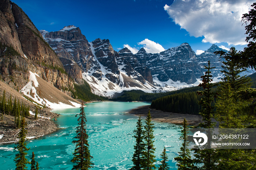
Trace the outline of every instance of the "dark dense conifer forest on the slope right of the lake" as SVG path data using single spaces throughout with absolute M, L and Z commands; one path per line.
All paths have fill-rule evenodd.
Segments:
M 251 78 L 251 87 L 256 88 L 256 73 L 249 75 Z M 184 113 L 184 114 L 199 114 L 201 109 L 198 102 L 201 96 L 197 91 L 202 90 L 202 87 L 189 87 L 181 90 L 166 92 L 166 93 L 145 93 L 139 90 L 125 91 L 123 95 L 114 98 L 114 101 L 146 101 L 152 102 L 151 108 L 157 110 Z M 217 86 L 213 88 L 217 90 Z

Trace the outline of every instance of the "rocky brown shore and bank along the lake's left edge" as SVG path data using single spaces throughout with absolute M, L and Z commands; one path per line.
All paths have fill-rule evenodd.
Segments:
M 11 88 L 8 84 L 0 81 L 0 95 L 3 95 L 5 90 L 6 99 L 10 99 L 12 96 L 12 101 L 16 98 L 17 101 L 26 106 L 30 107 L 32 114 L 35 113 L 36 106 L 30 100 L 26 99 L 20 92 Z M 38 109 L 38 119 L 34 119 L 34 115 L 30 115 L 26 119 L 27 122 L 27 138 L 37 138 L 44 136 L 46 134 L 53 133 L 58 130 L 57 125 L 52 121 L 52 118 L 56 118 L 59 114 L 50 112 L 50 108 L 39 108 Z M 1 114 L 1 113 L 0 113 Z M 16 129 L 14 124 L 14 116 L 4 114 L 4 120 L 0 120 L 0 145 L 4 143 L 11 143 L 18 141 L 18 133 L 20 129 Z

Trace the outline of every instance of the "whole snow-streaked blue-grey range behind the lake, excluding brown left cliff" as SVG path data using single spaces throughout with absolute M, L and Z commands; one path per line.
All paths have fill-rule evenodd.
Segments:
M 208 60 L 216 67 L 212 72 L 215 81 L 221 77 L 222 63 L 214 51 L 223 49 L 214 44 L 200 55 L 196 55 L 188 43 L 157 54 L 147 53 L 144 48 L 132 54 L 126 47 L 114 51 L 108 39 L 89 42 L 74 25 L 40 33 L 68 74 L 78 83 L 86 80 L 98 95 L 114 96 L 135 89 L 164 92 L 197 85 Z

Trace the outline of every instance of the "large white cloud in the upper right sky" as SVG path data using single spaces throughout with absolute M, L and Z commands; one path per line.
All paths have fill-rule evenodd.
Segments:
M 164 9 L 191 36 L 203 42 L 245 45 L 245 24 L 241 17 L 255 0 L 176 0 Z

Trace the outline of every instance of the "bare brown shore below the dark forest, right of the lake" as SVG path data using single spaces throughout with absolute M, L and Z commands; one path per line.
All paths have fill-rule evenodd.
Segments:
M 202 116 L 200 116 L 200 115 L 189 115 L 189 114 L 163 112 L 161 110 L 156 110 L 156 109 L 150 108 L 150 105 L 134 108 L 131 111 L 129 111 L 129 113 L 146 117 L 148 110 L 150 110 L 150 114 L 152 116 L 151 120 L 155 120 L 157 122 L 182 124 L 184 118 L 186 118 L 189 125 L 197 125 L 200 122 L 202 122 Z

